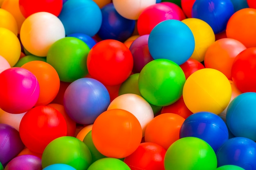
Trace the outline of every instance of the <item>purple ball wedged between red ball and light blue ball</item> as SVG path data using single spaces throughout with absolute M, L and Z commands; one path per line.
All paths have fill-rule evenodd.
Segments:
M 149 35 L 142 35 L 136 38 L 130 45 L 130 51 L 133 57 L 133 73 L 140 73 L 141 69 L 153 60 L 148 50 Z

